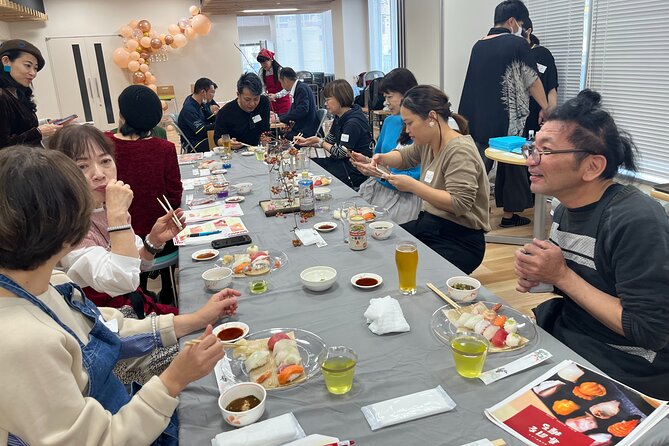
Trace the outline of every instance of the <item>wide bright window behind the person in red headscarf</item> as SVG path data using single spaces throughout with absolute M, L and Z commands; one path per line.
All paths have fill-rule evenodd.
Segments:
M 320 14 L 275 16 L 276 58 L 295 71 L 334 72 L 332 18 Z

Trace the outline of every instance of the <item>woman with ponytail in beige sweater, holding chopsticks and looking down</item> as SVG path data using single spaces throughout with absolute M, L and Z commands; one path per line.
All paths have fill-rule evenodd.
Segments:
M 419 180 L 409 175 L 382 175 L 399 191 L 423 199 L 418 218 L 402 227 L 469 274 L 485 254 L 490 185 L 476 144 L 468 134 L 467 120 L 451 111 L 444 92 L 429 85 L 409 90 L 400 114 L 413 144 L 377 153 L 368 165 L 364 165 L 364 157 L 352 157 L 368 169 L 408 169 L 420 164 Z M 457 122 L 459 131 L 449 127 L 449 118 Z

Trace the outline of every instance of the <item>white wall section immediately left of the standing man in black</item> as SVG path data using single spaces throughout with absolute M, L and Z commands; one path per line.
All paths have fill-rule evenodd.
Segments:
M 444 0 L 444 91 L 457 111 L 472 46 L 493 26 L 500 0 Z

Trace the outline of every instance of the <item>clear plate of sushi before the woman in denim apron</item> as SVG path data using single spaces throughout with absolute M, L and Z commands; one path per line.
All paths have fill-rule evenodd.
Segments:
M 299 328 L 262 330 L 243 341 L 226 355 L 231 356 L 230 370 L 237 382 L 255 382 L 267 390 L 306 382 L 320 372 L 325 356 L 323 340 Z

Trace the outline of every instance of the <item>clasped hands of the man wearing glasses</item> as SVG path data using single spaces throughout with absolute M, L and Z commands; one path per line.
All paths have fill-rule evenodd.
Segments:
M 526 293 L 540 282 L 556 285 L 567 276 L 569 268 L 560 247 L 534 239 L 516 251 L 515 270 L 518 276 L 516 290 Z

